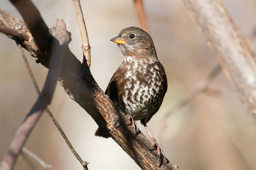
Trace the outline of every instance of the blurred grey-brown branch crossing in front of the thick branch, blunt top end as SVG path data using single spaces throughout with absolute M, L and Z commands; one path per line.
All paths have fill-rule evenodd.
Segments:
M 39 118 L 42 116 L 44 108 L 51 103 L 53 91 L 55 90 L 57 78 L 59 77 L 61 69 L 63 54 L 69 39 L 65 24 L 61 20 L 57 20 L 55 37 L 57 40 L 55 40 L 53 44 L 51 63 L 49 65 L 49 71 L 42 94 L 38 97 L 38 100 L 17 130 L 16 135 L 11 142 L 9 151 L 5 155 L 2 163 L 1 168 L 3 169 L 13 169 L 22 147 L 26 143 L 28 136 L 32 129 L 34 129 Z

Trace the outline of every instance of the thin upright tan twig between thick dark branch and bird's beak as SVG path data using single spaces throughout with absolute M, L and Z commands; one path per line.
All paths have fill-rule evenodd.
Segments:
M 79 23 L 79 29 L 82 37 L 82 52 L 84 53 L 84 58 L 82 63 L 85 64 L 85 61 L 87 62 L 87 65 L 90 67 L 90 44 L 88 39 L 88 33 L 84 21 L 84 15 L 82 14 L 82 8 L 80 4 L 80 0 L 73 0 L 73 4 L 76 11 L 77 21 Z

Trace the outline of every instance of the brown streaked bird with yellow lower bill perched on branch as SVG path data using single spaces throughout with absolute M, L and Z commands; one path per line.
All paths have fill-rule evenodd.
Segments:
M 129 117 L 136 133 L 134 121 L 141 120 L 160 157 L 164 153 L 146 125 L 160 108 L 167 91 L 166 73 L 156 56 L 154 43 L 147 32 L 137 27 L 123 29 L 110 41 L 117 43 L 125 58 L 105 94 Z M 95 135 L 110 137 L 100 128 Z

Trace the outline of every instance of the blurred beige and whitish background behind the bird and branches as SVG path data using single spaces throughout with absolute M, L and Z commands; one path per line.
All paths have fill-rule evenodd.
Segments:
M 256 25 L 256 1 L 224 2 L 243 33 L 250 37 Z M 48 27 L 53 27 L 57 18 L 64 19 L 68 31 L 72 33 L 69 48 L 82 61 L 81 37 L 72 1 L 35 0 L 34 3 Z M 114 71 L 123 61 L 117 45 L 109 40 L 123 28 L 138 26 L 133 1 L 94 0 L 81 1 L 81 5 L 92 47 L 90 70 L 105 91 Z M 0 7 L 21 18 L 9 1 L 1 1 Z M 144 2 L 144 7 L 150 35 L 168 78 L 168 91 L 162 107 L 148 122 L 148 127 L 166 157 L 182 170 L 256 169 L 255 129 L 222 71 L 210 83 L 210 92 L 194 97 L 191 103 L 171 114 L 166 120 L 166 128 L 159 128 L 164 115 L 210 73 L 217 65 L 217 59 L 181 0 L 148 0 Z M 251 40 L 251 44 L 255 48 L 255 39 Z M 0 54 L 2 159 L 37 95 L 15 42 L 1 33 Z M 36 58 L 26 54 L 42 89 L 48 70 L 36 63 Z M 140 169 L 112 139 L 94 136 L 97 124 L 75 101 L 69 99 L 59 84 L 49 109 L 81 158 L 90 163 L 90 170 Z M 138 124 L 147 135 L 143 126 Z M 53 169 L 83 169 L 47 114 L 38 122 L 25 147 L 51 164 Z M 43 169 L 34 160 L 32 162 L 36 169 Z M 15 169 L 32 168 L 19 156 Z

